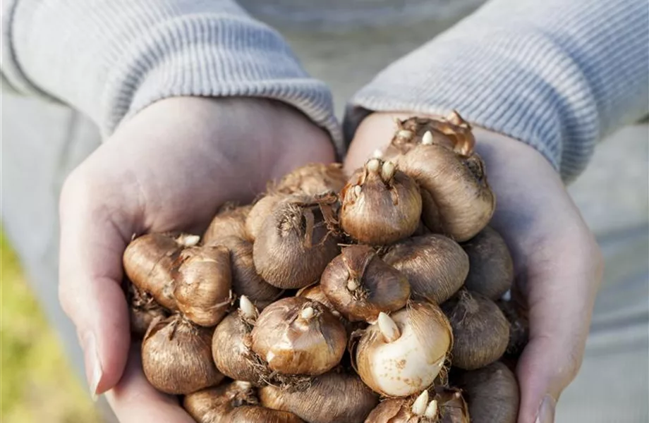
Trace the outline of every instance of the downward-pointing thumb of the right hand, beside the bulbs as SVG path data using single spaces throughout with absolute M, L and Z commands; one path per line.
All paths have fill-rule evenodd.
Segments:
M 535 252 L 523 288 L 530 341 L 517 368 L 520 423 L 553 422 L 554 403 L 581 367 L 595 302 L 593 287 L 602 277 L 598 256 L 597 246 L 583 231 L 566 233 Z

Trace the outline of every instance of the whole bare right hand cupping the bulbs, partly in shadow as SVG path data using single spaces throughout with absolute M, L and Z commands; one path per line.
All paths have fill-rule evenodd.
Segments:
M 410 116 L 376 113 L 365 118 L 346 168 L 357 168 L 389 143 L 394 117 Z M 512 291 L 525 300 L 530 319 L 529 343 L 516 368 L 521 388 L 518 423 L 552 422 L 559 395 L 581 366 L 602 279 L 602 257 L 548 161 L 523 142 L 474 129 L 476 150 L 496 195 L 490 225 L 511 249 L 516 271 Z

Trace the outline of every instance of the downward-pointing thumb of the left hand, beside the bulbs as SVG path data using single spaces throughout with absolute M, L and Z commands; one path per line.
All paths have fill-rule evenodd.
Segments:
M 75 324 L 92 395 L 121 377 L 130 343 L 121 288 L 124 233 L 130 228 L 103 207 L 101 188 L 68 179 L 61 195 L 59 301 Z

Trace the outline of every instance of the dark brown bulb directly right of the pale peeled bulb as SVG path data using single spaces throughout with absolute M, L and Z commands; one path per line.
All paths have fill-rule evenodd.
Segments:
M 449 317 L 455 343 L 451 363 L 473 370 L 495 362 L 507 350 L 509 324 L 498 306 L 483 295 L 460 290 L 442 305 Z

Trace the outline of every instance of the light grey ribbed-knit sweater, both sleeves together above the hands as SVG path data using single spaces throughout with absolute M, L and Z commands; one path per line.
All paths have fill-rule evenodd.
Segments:
M 418 0 L 242 3 L 4 0 L 1 70 L 19 92 L 90 116 L 104 136 L 178 95 L 279 99 L 326 128 L 340 152 L 371 111 L 457 109 L 538 149 L 566 182 L 598 140 L 649 111 L 646 0 L 487 1 L 356 92 L 345 131 L 327 85 L 249 11 L 316 30 L 440 9 Z

